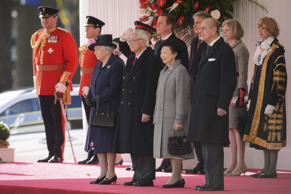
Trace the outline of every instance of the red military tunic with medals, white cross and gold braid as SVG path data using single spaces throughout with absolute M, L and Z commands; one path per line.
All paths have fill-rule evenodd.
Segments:
M 59 82 L 63 72 L 71 73 L 68 76 L 70 90 L 72 91 L 72 77 L 78 65 L 77 45 L 71 33 L 62 28 L 55 28 L 45 34 L 41 29 L 35 32 L 31 38 L 33 48 L 33 75 L 36 76 L 35 89 L 37 95 L 53 95 L 55 85 Z M 45 66 L 42 66 L 45 65 Z M 60 66 L 59 70 L 50 70 Z M 64 67 L 64 68 L 63 68 Z M 41 70 L 45 68 L 46 70 Z

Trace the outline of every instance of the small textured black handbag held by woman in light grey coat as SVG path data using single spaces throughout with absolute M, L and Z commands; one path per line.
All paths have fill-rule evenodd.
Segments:
M 183 136 L 175 136 L 175 130 L 172 137 L 168 138 L 168 152 L 171 155 L 190 154 L 192 152 L 191 144 L 186 140 L 187 136 L 184 133 Z

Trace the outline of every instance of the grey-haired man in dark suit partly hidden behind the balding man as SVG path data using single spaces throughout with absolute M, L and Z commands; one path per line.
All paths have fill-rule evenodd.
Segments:
M 197 12 L 193 15 L 194 19 L 194 31 L 196 37 L 191 42 L 191 51 L 190 51 L 190 60 L 189 60 L 189 74 L 190 74 L 190 96 L 191 96 L 191 104 L 193 103 L 193 94 L 196 84 L 196 76 L 198 73 L 198 65 L 201 60 L 202 51 L 206 48 L 207 43 L 202 41 L 200 38 L 200 25 L 202 21 L 206 18 L 211 18 L 211 15 L 207 12 Z M 203 158 L 200 143 L 194 143 L 194 148 L 196 152 L 196 156 L 198 159 L 198 163 L 195 168 L 191 170 L 186 170 L 187 174 L 205 174 L 204 166 L 203 166 Z

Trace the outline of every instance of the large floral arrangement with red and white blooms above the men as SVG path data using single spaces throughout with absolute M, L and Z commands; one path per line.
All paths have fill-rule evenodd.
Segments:
M 254 0 L 245 1 L 266 10 Z M 183 41 L 189 44 L 195 38 L 192 16 L 196 12 L 208 12 L 222 23 L 232 18 L 233 3 L 235 2 L 241 2 L 241 0 L 139 0 L 140 12 L 145 14 L 139 20 L 156 27 L 158 17 L 162 13 L 171 13 L 177 22 L 176 35 L 183 37 Z M 160 36 L 155 32 L 154 39 L 159 38 Z

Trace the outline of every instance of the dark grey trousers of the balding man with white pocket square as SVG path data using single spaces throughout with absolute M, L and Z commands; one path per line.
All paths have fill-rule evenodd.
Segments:
M 224 185 L 223 182 L 223 144 L 201 143 L 205 171 L 205 182 Z

